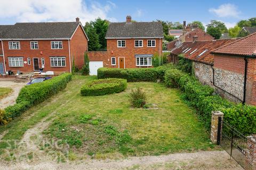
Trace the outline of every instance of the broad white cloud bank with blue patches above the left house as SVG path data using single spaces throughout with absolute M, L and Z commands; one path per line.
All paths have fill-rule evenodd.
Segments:
M 116 21 L 108 18 L 108 12 L 116 4 L 108 1 L 87 4 L 82 0 L 1 0 L 0 18 L 15 18 L 18 22 L 75 21 L 76 17 L 84 24 L 95 18 Z

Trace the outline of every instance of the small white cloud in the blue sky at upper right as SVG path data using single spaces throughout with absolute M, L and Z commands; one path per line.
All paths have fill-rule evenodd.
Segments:
M 222 4 L 218 8 L 210 8 L 209 12 L 214 13 L 219 17 L 234 17 L 239 18 L 239 14 L 241 13 L 238 11 L 238 8 L 234 4 Z

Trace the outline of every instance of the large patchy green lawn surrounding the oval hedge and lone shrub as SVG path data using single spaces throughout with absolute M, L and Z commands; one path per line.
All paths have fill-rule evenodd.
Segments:
M 1 148 L 4 152 L 7 147 L 4 140 L 20 140 L 26 130 L 44 117 L 52 121 L 43 131 L 44 138 L 68 143 L 75 157 L 159 155 L 214 147 L 209 133 L 195 111 L 182 101 L 178 89 L 167 89 L 161 83 L 129 82 L 127 89 L 119 94 L 81 96 L 83 83 L 93 79 L 75 75 L 58 95 L 1 127 L 0 133 L 8 132 L 0 142 L 0 154 Z M 129 93 L 136 87 L 146 91 L 147 103 L 157 109 L 131 108 Z M 52 148 L 45 145 L 42 150 L 49 152 Z

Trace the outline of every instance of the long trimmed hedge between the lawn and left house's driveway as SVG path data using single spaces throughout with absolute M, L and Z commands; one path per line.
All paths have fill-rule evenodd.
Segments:
M 5 108 L 5 120 L 19 116 L 31 106 L 41 103 L 45 99 L 57 94 L 64 89 L 71 80 L 72 74 L 63 73 L 50 80 L 41 83 L 30 84 L 23 87 L 16 99 L 16 104 Z

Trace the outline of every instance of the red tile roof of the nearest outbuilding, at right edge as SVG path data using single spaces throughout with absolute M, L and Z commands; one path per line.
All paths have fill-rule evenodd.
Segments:
M 225 46 L 219 47 L 213 50 L 212 53 L 256 56 L 256 32 L 247 37 L 233 41 Z

